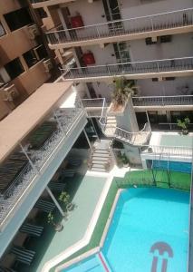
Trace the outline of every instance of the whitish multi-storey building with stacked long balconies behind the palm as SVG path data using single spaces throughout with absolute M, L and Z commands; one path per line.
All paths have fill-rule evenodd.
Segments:
M 192 122 L 191 0 L 32 3 L 49 15 L 54 10 L 54 19 L 58 13 L 60 25 L 47 32 L 50 48 L 72 46 L 76 68 L 63 70 L 65 81 L 111 101 L 111 82 L 124 76 L 139 87 L 133 97 L 139 124 L 147 120 L 145 110 L 159 129 L 184 116 Z

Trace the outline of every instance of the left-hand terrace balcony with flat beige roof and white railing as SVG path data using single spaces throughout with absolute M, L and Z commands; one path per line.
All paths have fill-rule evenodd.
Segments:
M 29 194 L 37 190 L 38 186 L 42 189 L 38 188 L 38 193 L 42 193 L 54 171 L 59 167 L 60 160 L 63 160 L 71 149 L 86 123 L 82 102 L 76 93 L 72 92 L 71 85 L 54 83 L 54 92 L 53 84 L 48 85 L 44 89 L 39 89 L 43 92 L 34 92 L 26 102 L 0 123 L 1 129 L 6 129 L 11 122 L 17 123 L 12 134 L 10 133 L 13 126 L 8 127 L 5 135 L 1 137 L 3 147 L 0 152 L 1 229 L 5 228 L 7 220 L 15 215 L 21 202 L 26 200 L 26 196 L 29 201 L 29 207 L 26 208 L 30 209 L 33 204 L 30 201 L 38 199 L 38 194 L 35 193 L 34 197 L 29 197 Z M 44 101 L 41 99 L 43 97 L 46 97 Z M 19 123 L 21 115 L 23 121 Z

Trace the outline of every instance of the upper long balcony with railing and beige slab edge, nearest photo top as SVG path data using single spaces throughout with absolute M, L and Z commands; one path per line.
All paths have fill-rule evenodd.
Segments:
M 51 49 L 192 32 L 193 8 L 47 33 Z

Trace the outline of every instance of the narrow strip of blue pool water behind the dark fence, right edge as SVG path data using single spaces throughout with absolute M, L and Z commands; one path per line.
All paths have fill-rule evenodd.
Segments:
M 168 160 L 153 160 L 153 169 L 163 169 L 163 170 L 173 170 L 184 173 L 191 173 L 191 163 L 190 162 L 180 162 L 180 161 L 169 161 Z

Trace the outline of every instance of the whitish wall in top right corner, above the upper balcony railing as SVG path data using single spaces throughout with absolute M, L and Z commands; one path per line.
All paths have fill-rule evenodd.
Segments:
M 145 4 L 141 2 L 141 0 L 120 0 L 122 18 L 126 19 L 143 15 L 154 15 L 193 6 L 192 0 L 147 1 Z

